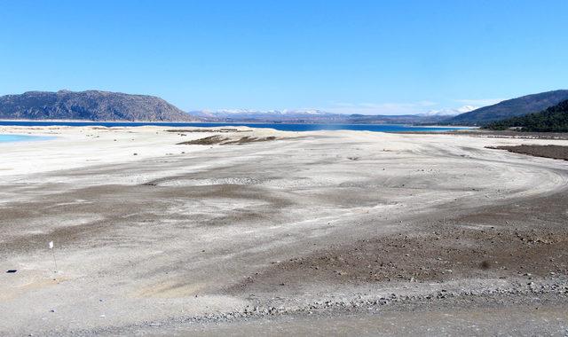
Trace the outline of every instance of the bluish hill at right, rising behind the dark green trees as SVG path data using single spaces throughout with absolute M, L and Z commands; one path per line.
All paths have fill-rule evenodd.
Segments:
M 485 125 L 491 121 L 538 113 L 568 99 L 568 90 L 554 90 L 502 101 L 444 121 L 454 125 Z

